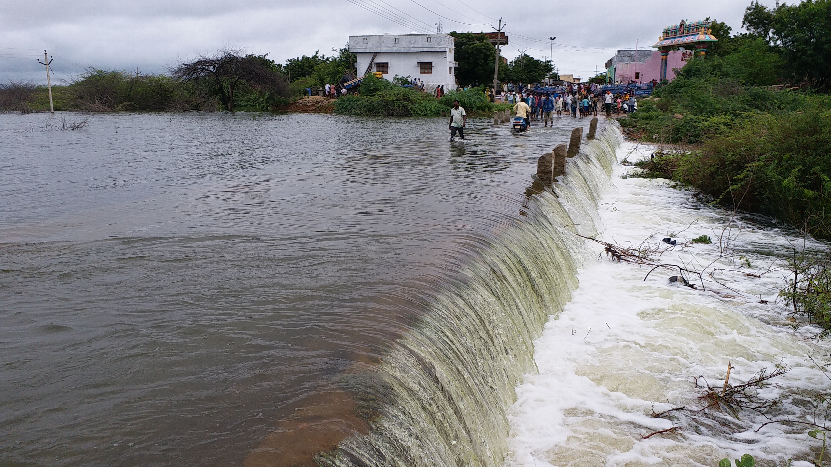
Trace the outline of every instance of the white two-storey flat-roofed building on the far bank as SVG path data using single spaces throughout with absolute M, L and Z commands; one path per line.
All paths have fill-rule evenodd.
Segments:
M 424 82 L 425 88 L 456 88 L 453 60 L 453 37 L 447 34 L 384 34 L 350 36 L 349 52 L 357 54 L 357 76 L 379 71 L 392 81 L 396 75 L 411 76 Z

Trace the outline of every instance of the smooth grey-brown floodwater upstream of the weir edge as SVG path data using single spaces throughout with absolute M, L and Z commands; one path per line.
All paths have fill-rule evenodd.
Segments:
M 473 118 L 463 145 L 445 119 L 46 118 L 0 115 L 2 465 L 303 465 L 366 433 L 340 376 L 588 127 Z

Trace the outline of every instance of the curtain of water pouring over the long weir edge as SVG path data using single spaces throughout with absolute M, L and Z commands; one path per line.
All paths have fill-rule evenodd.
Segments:
M 506 409 L 534 339 L 577 287 L 583 240 L 595 234 L 597 199 L 622 138 L 609 125 L 568 160 L 566 175 L 531 197 L 413 329 L 370 371 L 347 375 L 371 430 L 317 455 L 329 466 L 498 467 L 509 430 Z

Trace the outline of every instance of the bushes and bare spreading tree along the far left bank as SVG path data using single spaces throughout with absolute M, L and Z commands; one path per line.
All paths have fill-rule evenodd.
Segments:
M 170 75 L 142 75 L 89 68 L 69 83 L 52 86 L 56 111 L 268 111 L 288 103 L 282 66 L 266 55 L 222 50 L 179 63 Z M 46 86 L 0 85 L 0 110 L 49 109 Z

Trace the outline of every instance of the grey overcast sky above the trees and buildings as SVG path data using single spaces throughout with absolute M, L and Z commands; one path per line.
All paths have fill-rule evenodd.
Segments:
M 667 2 L 508 2 L 495 0 L 0 0 L 0 82 L 46 81 L 36 61 L 55 57 L 57 81 L 87 66 L 164 72 L 166 66 L 225 45 L 268 53 L 278 62 L 315 50 L 331 54 L 350 35 L 489 31 L 507 22 L 510 45 L 543 59 L 554 42 L 561 73 L 588 78 L 617 49 L 649 48 L 663 27 L 713 17 L 735 30 L 750 0 Z M 773 0 L 763 0 L 771 6 Z M 363 7 L 359 6 L 362 5 Z M 584 7 L 593 8 L 586 11 Z M 367 11 L 367 9 L 376 12 Z M 378 14 L 380 13 L 380 15 Z M 403 24 L 402 24 L 403 23 Z M 465 24 L 467 23 L 467 24 Z M 38 54 L 40 54 L 38 56 Z

